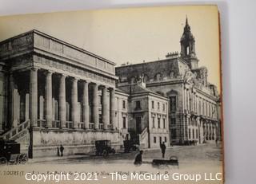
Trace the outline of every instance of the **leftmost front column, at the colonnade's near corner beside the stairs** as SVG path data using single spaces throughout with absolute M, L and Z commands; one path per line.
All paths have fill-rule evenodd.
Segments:
M 30 69 L 30 125 L 38 126 L 38 69 Z

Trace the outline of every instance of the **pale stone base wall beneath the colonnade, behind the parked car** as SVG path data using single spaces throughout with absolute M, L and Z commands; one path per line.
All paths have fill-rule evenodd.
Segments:
M 64 155 L 94 153 L 95 140 L 110 140 L 111 147 L 121 149 L 118 131 L 85 131 L 70 129 L 34 129 L 33 157 L 57 156 L 57 147 L 64 147 Z

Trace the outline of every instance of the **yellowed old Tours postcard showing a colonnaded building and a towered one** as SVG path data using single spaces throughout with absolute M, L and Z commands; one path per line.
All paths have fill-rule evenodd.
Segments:
M 0 181 L 223 183 L 217 6 L 0 17 Z

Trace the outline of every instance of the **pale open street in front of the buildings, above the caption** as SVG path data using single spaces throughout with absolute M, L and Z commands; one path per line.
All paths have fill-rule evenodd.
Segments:
M 104 159 L 102 156 L 96 155 L 65 155 L 63 157 L 50 157 L 30 159 L 29 162 L 22 165 L 8 165 L 3 166 L 2 170 L 22 170 L 22 174 L 51 174 L 51 173 L 90 173 L 98 174 L 98 178 L 102 181 L 110 181 L 111 183 L 119 183 L 110 178 L 110 173 L 131 174 L 131 173 L 145 173 L 151 174 L 200 174 L 204 176 L 207 174 L 222 174 L 222 150 L 221 147 L 216 147 L 214 143 L 202 144 L 198 146 L 174 146 L 166 149 L 166 159 L 175 155 L 178 157 L 179 166 L 164 166 L 154 167 L 151 165 L 153 159 L 161 159 L 162 154 L 159 149 L 145 150 L 142 156 L 143 163 L 141 166 L 134 166 L 134 155 L 137 152 L 117 153 L 109 155 Z M 221 175 L 222 176 L 222 175 Z M 11 180 L 9 176 L 6 179 Z M 100 180 L 100 181 L 101 181 Z M 24 182 L 24 177 L 22 177 Z M 168 180 L 166 183 L 190 183 L 184 180 L 174 181 Z M 84 183 L 84 181 L 76 181 L 76 183 Z M 202 179 L 200 182 L 205 184 L 206 181 Z M 222 183 L 221 181 L 212 181 L 211 183 Z

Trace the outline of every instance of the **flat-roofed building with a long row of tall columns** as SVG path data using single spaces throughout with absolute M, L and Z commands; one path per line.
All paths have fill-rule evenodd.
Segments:
M 74 154 L 94 151 L 97 139 L 116 149 L 129 139 L 114 62 L 32 30 L 0 42 L 0 65 L 1 138 L 22 143 L 30 158 L 56 155 L 60 144 Z

